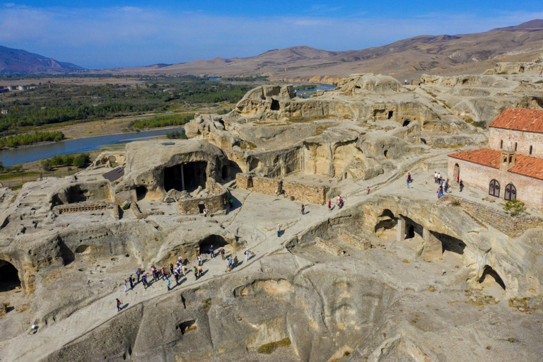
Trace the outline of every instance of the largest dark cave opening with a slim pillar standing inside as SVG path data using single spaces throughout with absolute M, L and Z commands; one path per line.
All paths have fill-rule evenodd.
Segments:
M 187 190 L 193 192 L 199 186 L 206 187 L 206 168 L 207 162 L 187 162 L 167 167 L 164 169 L 164 189 L 166 192 L 170 189 L 177 191 Z

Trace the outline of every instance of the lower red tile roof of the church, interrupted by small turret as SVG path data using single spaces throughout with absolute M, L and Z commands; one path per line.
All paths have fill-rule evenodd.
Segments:
M 500 168 L 501 151 L 491 148 L 479 148 L 473 151 L 451 153 L 449 157 L 491 168 Z M 508 172 L 543 180 L 543 159 L 517 154 L 515 165 Z

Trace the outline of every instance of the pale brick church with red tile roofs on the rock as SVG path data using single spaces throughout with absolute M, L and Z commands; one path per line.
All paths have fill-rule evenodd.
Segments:
M 489 124 L 488 148 L 448 155 L 448 175 L 543 211 L 543 110 L 504 110 Z

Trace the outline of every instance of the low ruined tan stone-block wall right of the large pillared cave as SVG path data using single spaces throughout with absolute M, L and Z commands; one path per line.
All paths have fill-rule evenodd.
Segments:
M 240 189 L 250 189 L 271 196 L 285 194 L 298 202 L 324 205 L 330 188 L 327 186 L 305 185 L 295 181 L 282 181 L 269 177 L 251 176 L 247 174 L 236 175 L 236 185 Z

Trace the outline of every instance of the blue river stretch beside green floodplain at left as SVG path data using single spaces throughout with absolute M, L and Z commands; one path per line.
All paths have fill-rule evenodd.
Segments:
M 86 139 L 71 139 L 61 142 L 37 144 L 0 151 L 0 161 L 4 166 L 28 163 L 42 158 L 50 158 L 64 153 L 81 153 L 100 149 L 107 144 L 127 144 L 132 141 L 143 141 L 153 137 L 164 136 L 168 132 L 180 131 L 180 128 L 151 129 L 150 131 L 107 134 L 105 136 L 89 137 Z

